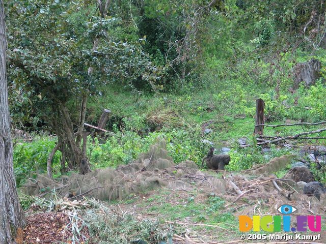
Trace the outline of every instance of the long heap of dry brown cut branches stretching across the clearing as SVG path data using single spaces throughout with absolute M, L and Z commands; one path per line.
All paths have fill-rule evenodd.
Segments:
M 92 196 L 99 200 L 123 199 L 129 194 L 137 194 L 166 186 L 183 191 L 200 190 L 207 195 L 217 195 L 228 203 L 238 214 L 260 215 L 263 212 L 278 214 L 282 204 L 300 208 L 301 214 L 321 214 L 325 210 L 326 197 L 304 195 L 296 182 L 278 179 L 271 174 L 283 169 L 290 162 L 290 156 L 272 159 L 269 163 L 238 175 L 224 172 L 218 176 L 214 171 L 201 171 L 192 161 L 175 165 L 168 155 L 165 141 L 157 141 L 138 160 L 116 170 L 106 168 L 86 175 L 72 174 L 69 179 L 52 180 L 46 175 L 30 179 L 24 189 L 26 194 L 51 197 L 52 189 L 57 196 L 70 200 Z M 66 177 L 66 176 L 65 176 Z

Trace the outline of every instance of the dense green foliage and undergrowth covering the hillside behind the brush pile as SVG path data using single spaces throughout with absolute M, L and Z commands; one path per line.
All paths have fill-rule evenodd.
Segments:
M 232 145 L 252 138 L 257 98 L 265 101 L 267 122 L 326 119 L 322 1 L 5 4 L 14 127 L 60 135 L 65 126 L 58 121 L 67 111 L 72 133 L 80 127 L 80 103 L 89 98 L 85 121 L 96 125 L 108 108 L 106 129 L 116 133 L 104 142 L 88 139 L 93 167 L 128 163 L 158 136 L 175 162 L 198 163 L 207 148 L 203 139 Z M 294 68 L 312 58 L 321 64 L 317 81 L 295 87 Z M 204 135 L 205 126 L 213 133 Z M 18 182 L 30 169 L 44 171 L 55 146 L 47 138 L 33 143 L 15 147 Z M 266 160 L 260 148 L 230 154 L 232 170 Z M 55 173 L 60 158 L 57 152 Z

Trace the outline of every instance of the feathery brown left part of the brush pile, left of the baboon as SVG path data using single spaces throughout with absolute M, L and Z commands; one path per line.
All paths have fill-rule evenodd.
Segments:
M 39 174 L 36 179 L 26 182 L 23 192 L 50 197 L 55 191 L 57 196 L 70 199 L 92 196 L 99 200 L 115 200 L 123 199 L 131 193 L 168 186 L 171 177 L 182 177 L 197 171 L 198 167 L 192 161 L 176 166 L 168 155 L 165 141 L 159 140 L 151 145 L 147 153 L 141 154 L 138 160 L 116 170 L 105 168 L 86 175 L 73 173 L 68 179 L 64 176 L 58 180 Z

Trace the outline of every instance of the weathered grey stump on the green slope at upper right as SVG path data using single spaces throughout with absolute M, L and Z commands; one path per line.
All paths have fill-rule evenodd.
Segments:
M 319 78 L 321 65 L 318 59 L 311 59 L 306 63 L 298 63 L 294 66 L 294 88 L 297 89 L 300 83 L 305 82 L 307 86 L 315 84 Z

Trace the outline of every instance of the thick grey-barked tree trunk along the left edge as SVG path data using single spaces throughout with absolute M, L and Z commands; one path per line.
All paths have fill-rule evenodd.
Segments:
M 24 215 L 18 201 L 13 171 L 6 72 L 6 25 L 0 0 L 0 243 L 22 242 Z

